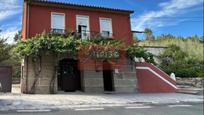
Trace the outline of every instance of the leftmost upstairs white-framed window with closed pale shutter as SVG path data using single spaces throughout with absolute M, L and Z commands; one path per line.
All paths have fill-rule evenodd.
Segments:
M 51 13 L 51 29 L 54 33 L 65 32 L 65 14 L 64 13 Z

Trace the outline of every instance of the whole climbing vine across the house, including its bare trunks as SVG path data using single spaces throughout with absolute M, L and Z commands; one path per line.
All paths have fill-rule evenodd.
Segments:
M 134 59 L 134 57 L 143 57 L 147 62 L 153 62 L 153 55 L 146 52 L 141 47 L 124 45 L 117 39 L 104 39 L 99 36 L 91 40 L 81 40 L 79 36 L 71 33 L 59 35 L 52 33 L 42 33 L 25 41 L 19 41 L 15 51 L 22 57 L 30 57 L 33 60 L 33 69 L 35 72 L 35 80 L 31 87 L 30 93 L 35 93 L 35 87 L 38 82 L 42 69 L 42 55 L 52 54 L 57 58 L 59 54 L 69 54 L 71 57 L 77 58 L 81 55 L 83 58 L 91 56 L 98 56 L 96 53 L 100 52 L 99 57 L 112 59 L 118 56 L 118 52 L 126 52 L 127 57 Z M 110 53 L 106 53 L 110 52 Z M 116 52 L 114 55 L 113 53 Z M 94 54 L 94 55 L 90 55 Z M 106 60 L 107 60 L 106 59 Z M 54 93 L 54 83 L 57 69 L 53 72 L 53 77 L 50 82 L 50 93 Z

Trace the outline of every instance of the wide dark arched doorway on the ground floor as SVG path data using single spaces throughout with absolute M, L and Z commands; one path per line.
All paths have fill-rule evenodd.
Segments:
M 63 59 L 58 68 L 58 89 L 63 91 L 81 90 L 80 70 L 78 61 L 74 59 Z

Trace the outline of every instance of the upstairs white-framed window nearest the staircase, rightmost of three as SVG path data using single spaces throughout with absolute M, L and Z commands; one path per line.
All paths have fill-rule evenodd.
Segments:
M 99 18 L 100 20 L 100 33 L 103 37 L 113 37 L 112 19 Z

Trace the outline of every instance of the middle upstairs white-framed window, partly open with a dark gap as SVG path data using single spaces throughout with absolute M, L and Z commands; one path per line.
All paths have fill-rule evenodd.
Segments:
M 80 34 L 81 39 L 89 39 L 90 27 L 89 27 L 89 16 L 77 15 L 76 16 L 76 30 Z

